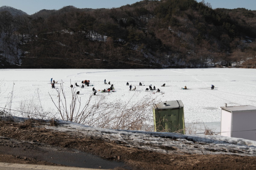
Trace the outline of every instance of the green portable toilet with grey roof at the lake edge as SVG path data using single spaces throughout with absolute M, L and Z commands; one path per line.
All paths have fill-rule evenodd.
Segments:
M 181 100 L 165 101 L 153 107 L 155 132 L 185 134 L 184 105 Z

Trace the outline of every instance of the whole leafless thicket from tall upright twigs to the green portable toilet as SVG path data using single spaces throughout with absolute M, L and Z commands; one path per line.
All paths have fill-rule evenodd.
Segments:
M 113 105 L 111 102 L 106 102 L 104 96 L 93 102 L 92 95 L 90 95 L 82 106 L 81 98 L 76 95 L 74 88 L 71 88 L 70 103 L 67 103 L 62 82 L 60 89 L 56 90 L 58 102 L 54 102 L 52 96 L 49 95 L 62 120 L 109 129 L 153 130 L 151 106 L 155 99 L 145 97 L 140 102 L 131 103 L 131 98 L 128 102 L 117 101 Z

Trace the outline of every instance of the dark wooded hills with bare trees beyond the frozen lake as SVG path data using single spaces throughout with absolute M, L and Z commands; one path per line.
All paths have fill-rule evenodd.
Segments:
M 195 0 L 66 6 L 33 15 L 2 9 L 0 36 L 0 68 L 242 65 L 255 61 L 256 11 L 212 9 Z

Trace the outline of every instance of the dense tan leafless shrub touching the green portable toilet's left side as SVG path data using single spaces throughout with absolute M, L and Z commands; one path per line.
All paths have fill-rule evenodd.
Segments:
M 106 114 L 106 118 L 97 122 L 97 127 L 125 130 L 153 131 L 152 125 L 152 105 L 155 99 L 147 97 L 140 99 L 140 102 L 128 105 L 127 103 L 117 102 L 113 111 Z

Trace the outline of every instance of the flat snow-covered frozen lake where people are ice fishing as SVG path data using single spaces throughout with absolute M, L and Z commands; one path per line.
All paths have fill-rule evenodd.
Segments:
M 114 85 L 115 92 L 99 93 L 92 100 L 105 100 L 133 103 L 143 98 L 156 98 L 156 103 L 169 100 L 181 100 L 184 104 L 185 126 L 191 123 L 204 123 L 214 132 L 220 132 L 220 107 L 252 105 L 256 106 L 256 70 L 245 68 L 186 68 L 186 69 L 0 69 L 0 107 L 12 99 L 11 109 L 19 107 L 20 103 L 41 102 L 43 108 L 57 112 L 49 94 L 58 101 L 56 89 L 52 89 L 50 79 L 58 81 L 60 88 L 63 81 L 64 92 L 71 99 L 71 84 L 82 85 L 82 80 L 90 80 L 90 85 L 96 90 L 110 87 L 104 84 L 104 79 Z M 129 91 L 136 86 L 135 91 Z M 139 86 L 139 82 L 142 86 Z M 166 84 L 165 87 L 161 85 Z M 211 85 L 214 90 L 211 90 Z M 146 92 L 149 85 L 160 89 Z M 183 90 L 182 87 L 188 88 Z M 74 86 L 75 87 L 75 86 Z M 92 94 L 92 86 L 80 88 L 82 102 L 86 102 Z M 13 90 L 13 97 L 11 92 Z M 155 93 L 153 93 L 155 92 Z M 1 110 L 0 108 L 0 110 Z M 10 106 L 8 106 L 10 108 Z M 153 113 L 152 113 L 153 115 Z M 153 124 L 153 118 L 152 122 Z

